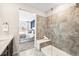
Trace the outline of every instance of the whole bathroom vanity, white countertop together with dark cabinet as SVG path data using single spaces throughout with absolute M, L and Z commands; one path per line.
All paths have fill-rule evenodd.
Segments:
M 0 56 L 12 56 L 13 54 L 13 37 L 0 37 Z

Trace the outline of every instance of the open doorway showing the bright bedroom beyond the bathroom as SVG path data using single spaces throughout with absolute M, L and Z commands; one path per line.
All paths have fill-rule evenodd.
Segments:
M 19 50 L 24 51 L 34 47 L 36 15 L 19 10 Z

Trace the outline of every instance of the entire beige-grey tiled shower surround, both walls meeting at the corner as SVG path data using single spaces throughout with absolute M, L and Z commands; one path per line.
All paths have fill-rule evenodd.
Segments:
M 37 16 L 37 39 L 47 36 L 52 45 L 71 54 L 79 55 L 79 7 L 70 7 L 52 16 Z

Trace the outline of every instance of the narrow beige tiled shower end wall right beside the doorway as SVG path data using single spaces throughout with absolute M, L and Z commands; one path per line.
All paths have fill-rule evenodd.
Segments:
M 45 29 L 46 29 L 46 17 L 37 15 L 36 19 L 36 39 L 42 39 L 45 35 Z

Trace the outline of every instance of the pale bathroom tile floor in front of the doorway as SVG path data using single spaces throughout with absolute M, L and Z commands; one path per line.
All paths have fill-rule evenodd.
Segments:
M 20 52 L 18 56 L 45 56 L 45 55 L 41 51 L 37 50 L 36 48 L 32 48 Z

